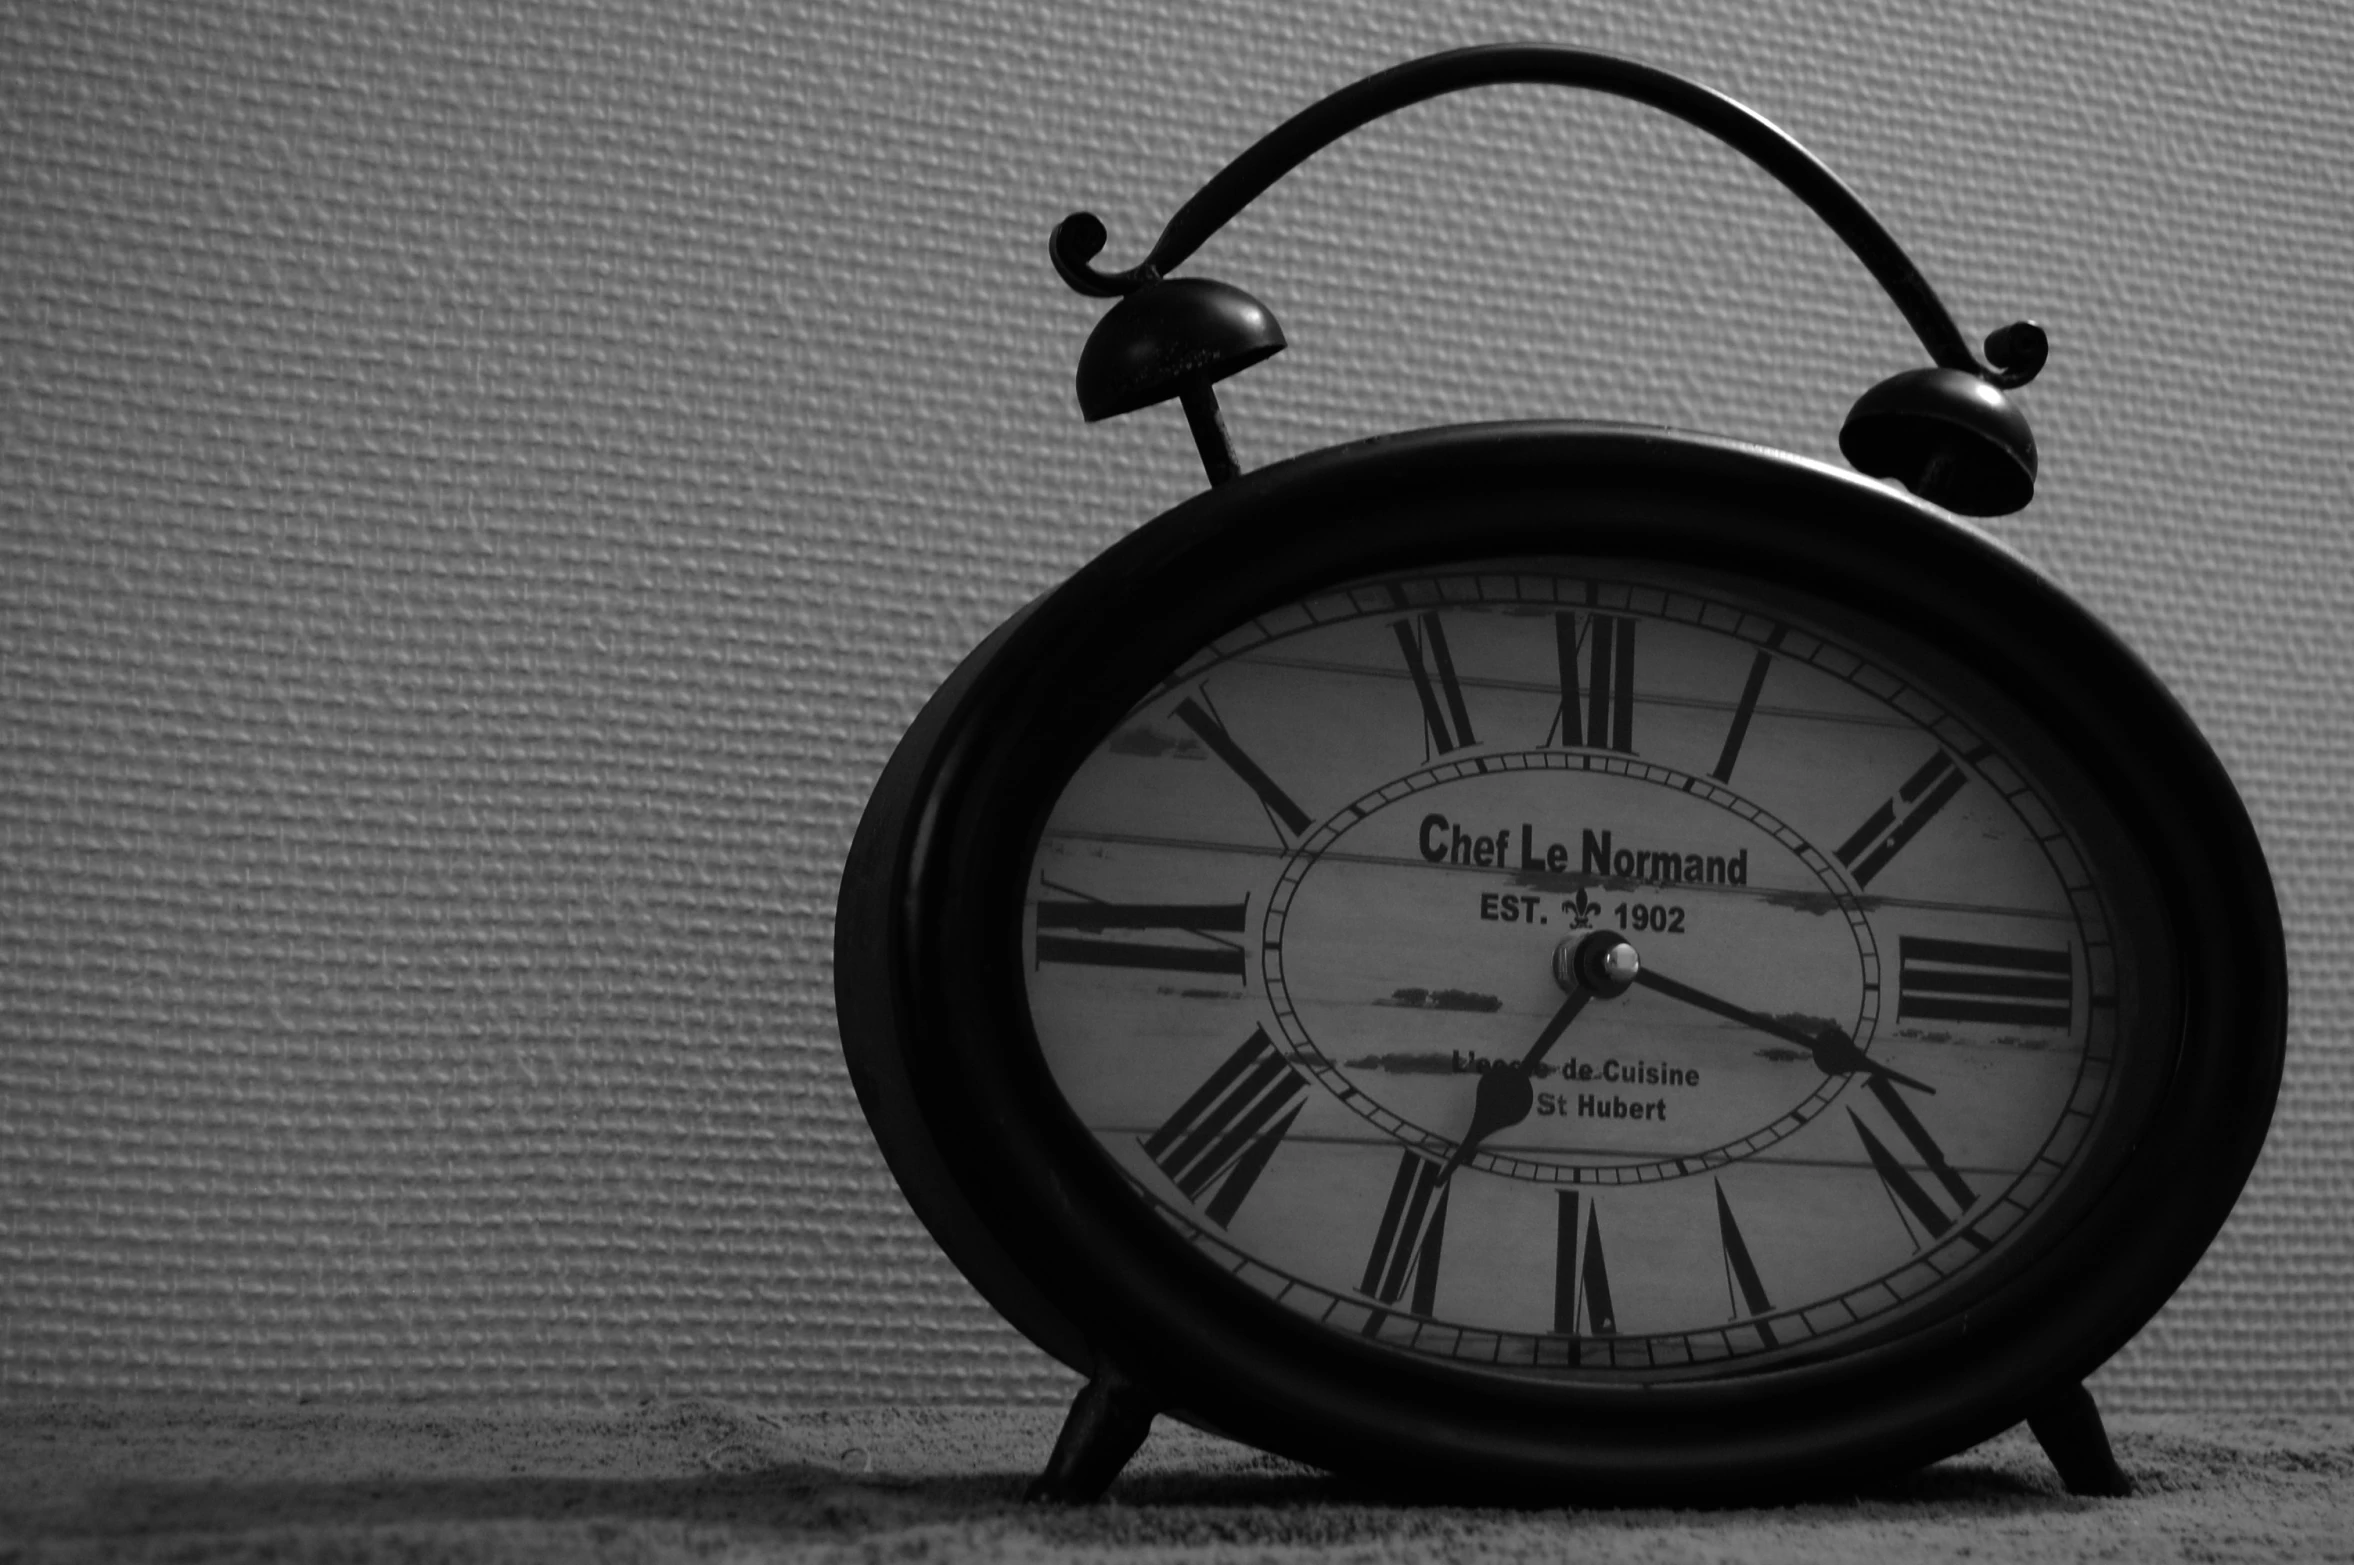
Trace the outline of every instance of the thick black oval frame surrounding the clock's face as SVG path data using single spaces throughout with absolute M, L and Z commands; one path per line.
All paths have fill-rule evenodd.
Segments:
M 1697 565 L 1900 626 L 2024 711 L 2149 866 L 2185 955 L 2180 1038 L 2126 1040 L 2119 1071 L 2147 1108 L 2114 1177 L 2074 1214 L 2029 1219 L 2017 1266 L 1966 1304 L 1704 1384 L 1417 1363 L 1339 1341 L 1198 1257 L 1048 1078 L 1024 995 L 1026 873 L 1064 781 L 1132 704 L 1215 635 L 1321 586 L 1551 553 Z M 1177 506 L 1024 610 L 942 687 L 876 788 L 843 878 L 836 991 L 911 1205 L 991 1304 L 1095 1377 L 1125 1433 L 1153 1405 L 1382 1483 L 1516 1499 L 1787 1499 L 2027 1417 L 2057 1429 L 2081 1412 L 2076 1384 L 2222 1228 L 2286 1035 L 2255 831 L 2123 642 L 2010 551 L 1883 485 L 1591 424 L 1419 431 L 1283 461 Z

